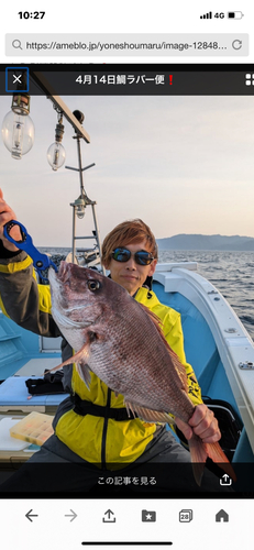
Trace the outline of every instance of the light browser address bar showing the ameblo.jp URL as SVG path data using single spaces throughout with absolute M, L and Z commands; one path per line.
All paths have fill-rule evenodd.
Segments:
M 7 56 L 247 56 L 249 34 L 7 34 Z

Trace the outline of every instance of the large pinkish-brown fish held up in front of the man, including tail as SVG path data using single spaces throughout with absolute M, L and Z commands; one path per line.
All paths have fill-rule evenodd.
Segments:
M 162 321 L 109 277 L 95 270 L 62 262 L 49 268 L 52 315 L 75 354 L 52 371 L 76 363 L 89 388 L 90 371 L 117 395 L 128 411 L 148 422 L 188 425 L 195 405 L 188 396 L 185 366 L 168 345 Z M 233 480 L 234 471 L 220 444 L 188 440 L 198 485 L 207 458 Z

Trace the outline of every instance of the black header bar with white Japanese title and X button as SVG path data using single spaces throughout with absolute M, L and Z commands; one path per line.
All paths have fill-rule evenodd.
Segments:
M 0 65 L 0 95 L 15 91 L 31 96 L 253 96 L 254 65 Z

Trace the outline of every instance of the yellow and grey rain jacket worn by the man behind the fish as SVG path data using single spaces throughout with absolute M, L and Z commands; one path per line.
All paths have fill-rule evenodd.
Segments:
M 15 322 L 33 332 L 44 336 L 59 336 L 59 331 L 51 315 L 49 287 L 37 285 L 32 273 L 31 262 L 20 253 L 13 260 L 0 265 L 0 307 Z M 30 264 L 30 265 L 27 265 Z M 16 300 L 16 296 L 20 299 Z M 194 405 L 202 403 L 200 387 L 196 381 L 192 367 L 186 362 L 184 336 L 180 314 L 161 304 L 153 292 L 140 288 L 135 299 L 144 304 L 163 321 L 163 331 L 170 348 L 177 353 L 186 367 L 189 397 Z M 65 358 L 71 355 L 71 350 Z M 123 396 L 115 396 L 103 382 L 91 373 L 90 388 L 79 377 L 76 367 L 73 369 L 71 391 L 78 398 L 91 402 L 93 405 L 124 408 Z M 68 407 L 67 407 L 68 408 Z M 66 410 L 66 408 L 65 408 Z M 87 414 L 75 413 L 69 399 L 69 410 L 56 414 L 55 433 L 63 443 L 88 462 L 107 468 L 120 468 L 124 463 L 135 461 L 153 439 L 157 426 L 140 418 L 115 420 Z

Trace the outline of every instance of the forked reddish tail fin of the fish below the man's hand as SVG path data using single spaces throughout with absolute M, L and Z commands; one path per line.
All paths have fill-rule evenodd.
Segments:
M 227 472 L 233 481 L 236 480 L 234 470 L 218 442 L 202 443 L 201 439 L 194 435 L 191 439 L 189 439 L 188 443 L 195 481 L 199 486 L 201 485 L 203 469 L 208 457 L 222 470 L 224 470 L 224 472 Z

